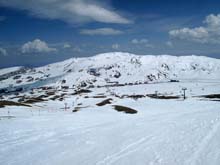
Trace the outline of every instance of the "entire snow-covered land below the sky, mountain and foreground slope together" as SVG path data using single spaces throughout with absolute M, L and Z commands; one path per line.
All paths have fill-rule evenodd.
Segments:
M 107 53 L 0 79 L 0 164 L 220 163 L 219 59 Z

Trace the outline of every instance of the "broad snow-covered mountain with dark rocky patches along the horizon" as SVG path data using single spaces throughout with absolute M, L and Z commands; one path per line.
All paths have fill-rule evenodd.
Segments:
M 139 56 L 112 52 L 87 58 L 71 58 L 37 68 L 1 69 L 0 88 L 43 85 L 93 87 L 218 78 L 219 59 L 194 55 Z

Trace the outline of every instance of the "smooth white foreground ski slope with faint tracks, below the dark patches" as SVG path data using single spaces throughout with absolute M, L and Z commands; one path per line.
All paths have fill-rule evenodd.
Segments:
M 138 113 L 106 106 L 0 120 L 0 164 L 219 164 L 218 102 L 140 99 L 117 104 Z

